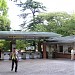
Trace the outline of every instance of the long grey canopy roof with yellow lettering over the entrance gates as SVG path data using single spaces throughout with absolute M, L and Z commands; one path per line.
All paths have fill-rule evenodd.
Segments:
M 0 31 L 0 39 L 47 39 L 60 36 L 53 32 Z

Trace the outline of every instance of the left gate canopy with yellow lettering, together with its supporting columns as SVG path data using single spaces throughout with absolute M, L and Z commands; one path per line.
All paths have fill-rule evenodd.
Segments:
M 47 58 L 46 39 L 59 36 L 61 35 L 53 32 L 0 31 L 0 39 L 10 41 L 10 51 L 16 47 L 16 40 L 39 40 L 37 49 L 39 52 L 42 52 L 43 58 Z M 40 40 L 42 40 L 42 42 L 40 42 Z

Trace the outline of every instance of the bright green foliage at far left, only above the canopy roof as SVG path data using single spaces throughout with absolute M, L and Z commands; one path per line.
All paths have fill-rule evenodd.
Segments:
M 10 20 L 7 18 L 7 2 L 0 0 L 0 31 L 10 30 Z

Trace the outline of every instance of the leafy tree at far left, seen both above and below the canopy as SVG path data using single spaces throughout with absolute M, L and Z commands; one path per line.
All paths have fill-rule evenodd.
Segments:
M 7 2 L 6 0 L 0 0 L 0 31 L 10 30 L 10 20 L 7 17 Z M 0 40 L 0 48 L 9 49 L 9 42 L 5 40 Z

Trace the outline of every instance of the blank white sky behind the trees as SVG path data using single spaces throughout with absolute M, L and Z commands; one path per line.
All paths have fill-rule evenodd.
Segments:
M 25 1 L 25 0 L 23 0 Z M 38 2 L 42 2 L 44 6 L 46 6 L 47 12 L 67 12 L 74 13 L 75 12 L 75 0 L 35 0 Z M 20 24 L 22 23 L 22 19 L 17 16 L 19 15 L 20 8 L 15 5 L 14 2 L 8 0 L 8 15 L 11 20 L 11 28 L 12 30 L 20 30 Z

